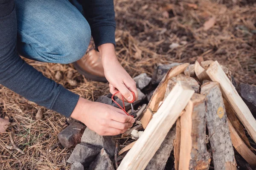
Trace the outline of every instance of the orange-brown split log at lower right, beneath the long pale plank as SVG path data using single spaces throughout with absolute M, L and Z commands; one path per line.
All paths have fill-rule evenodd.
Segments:
M 230 129 L 232 144 L 236 148 L 237 152 L 244 158 L 245 161 L 247 161 L 250 164 L 250 166 L 253 169 L 256 168 L 255 154 L 247 147 L 247 145 L 240 138 L 239 134 L 232 126 L 230 120 L 228 120 L 228 127 Z

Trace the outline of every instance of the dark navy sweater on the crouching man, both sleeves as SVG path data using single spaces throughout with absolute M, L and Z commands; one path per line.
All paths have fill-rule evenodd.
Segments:
M 115 44 L 113 0 L 81 0 L 96 45 Z M 0 0 L 0 84 L 38 105 L 69 117 L 79 95 L 27 64 L 17 54 L 17 19 L 13 0 Z

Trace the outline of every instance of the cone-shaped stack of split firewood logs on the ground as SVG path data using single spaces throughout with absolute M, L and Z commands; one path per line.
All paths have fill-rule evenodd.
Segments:
M 145 130 L 127 146 L 131 149 L 118 170 L 144 170 L 156 164 L 151 161 L 161 150 L 172 150 L 170 144 L 176 170 L 209 169 L 211 161 L 215 170 L 236 170 L 234 149 L 256 168 L 255 150 L 246 136 L 256 142 L 256 120 L 234 88 L 230 71 L 217 61 L 171 68 L 140 122 Z

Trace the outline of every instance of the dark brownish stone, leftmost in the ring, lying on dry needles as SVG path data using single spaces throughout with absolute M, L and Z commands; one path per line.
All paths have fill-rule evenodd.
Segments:
M 70 148 L 80 143 L 81 136 L 84 133 L 85 126 L 74 122 L 68 125 L 58 134 L 58 139 L 63 147 Z

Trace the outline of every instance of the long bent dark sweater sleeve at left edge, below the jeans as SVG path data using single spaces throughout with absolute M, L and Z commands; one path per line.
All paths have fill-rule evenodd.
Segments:
M 63 86 L 27 64 L 17 54 L 14 0 L 0 0 L 0 84 L 26 99 L 70 116 L 79 99 Z

